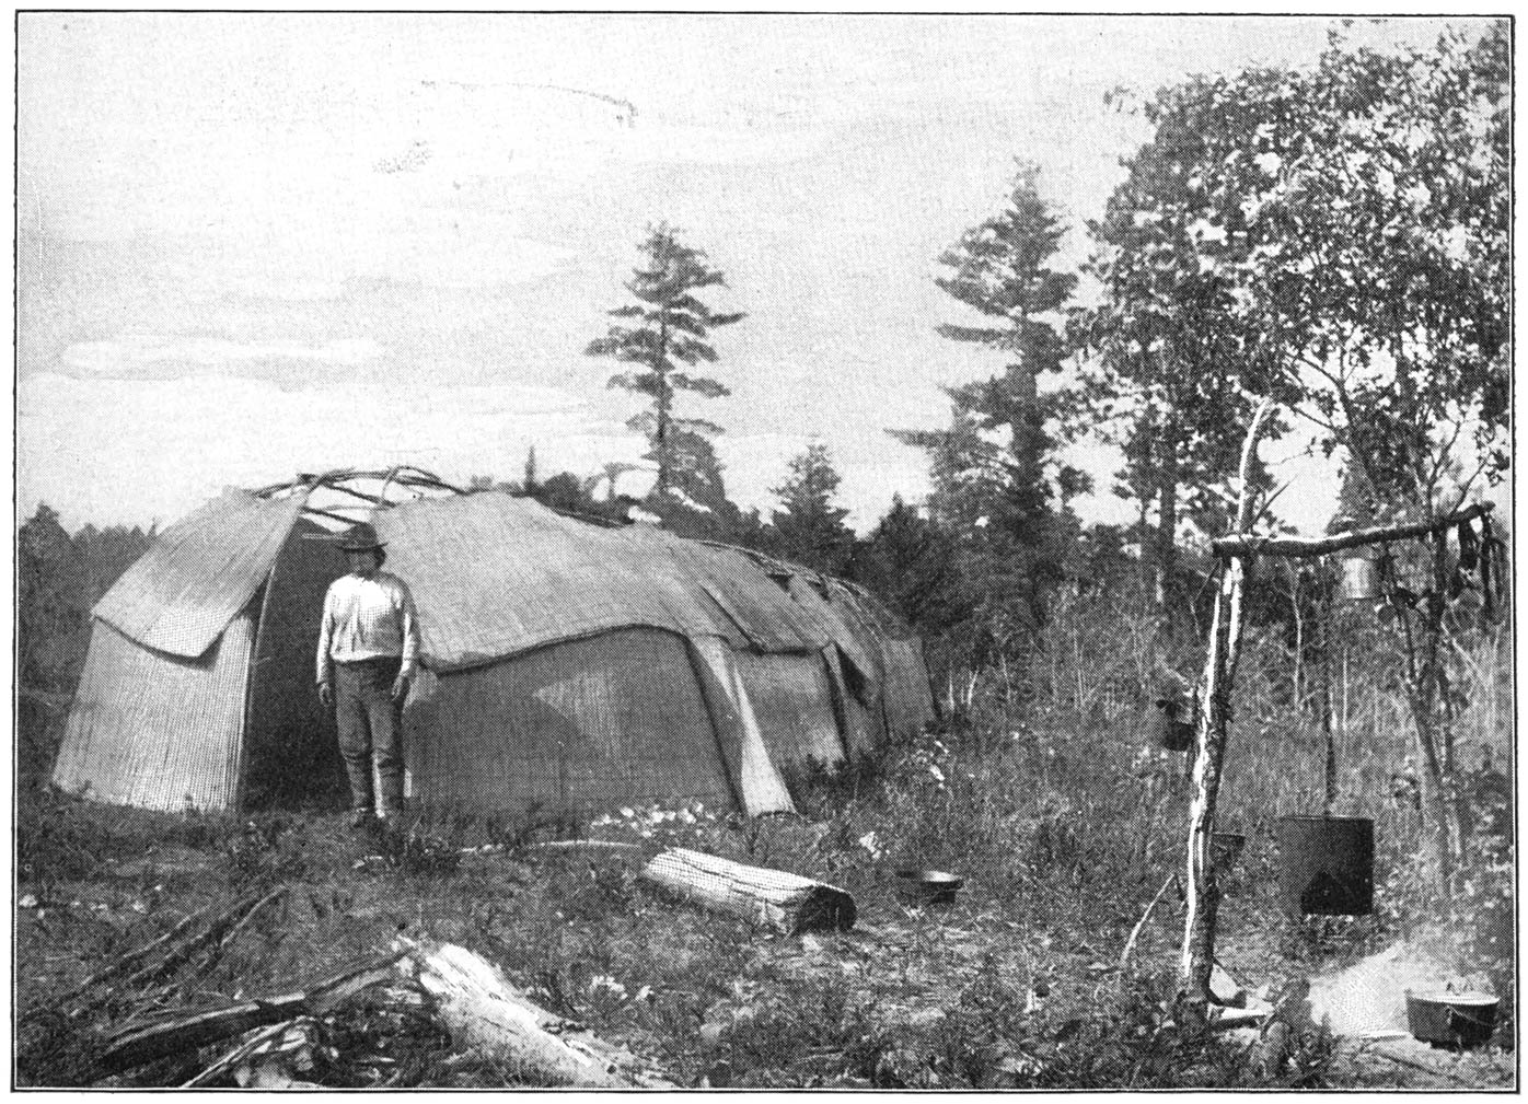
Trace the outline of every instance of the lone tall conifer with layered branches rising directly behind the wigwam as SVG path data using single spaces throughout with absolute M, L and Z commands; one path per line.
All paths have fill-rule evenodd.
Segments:
M 701 250 L 681 243 L 678 234 L 666 223 L 648 231 L 640 246 L 645 264 L 626 281 L 637 302 L 610 312 L 628 322 L 611 325 L 585 353 L 631 365 L 631 371 L 611 376 L 610 386 L 645 395 L 651 403 L 626 424 L 648 438 L 646 460 L 657 466 L 654 499 L 662 505 L 663 499 L 683 495 L 697 505 L 711 507 L 704 499 L 721 493 L 721 478 L 707 437 L 720 434 L 721 426 L 680 417 L 674 412 L 674 400 L 680 391 L 706 399 L 729 394 L 720 380 L 685 368 L 714 363 L 717 350 L 707 341 L 711 331 L 740 322 L 744 315 L 715 313 L 697 298 L 701 289 L 723 287 L 726 279 L 707 266 Z

